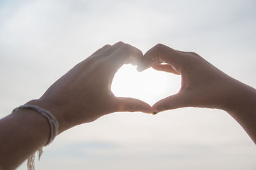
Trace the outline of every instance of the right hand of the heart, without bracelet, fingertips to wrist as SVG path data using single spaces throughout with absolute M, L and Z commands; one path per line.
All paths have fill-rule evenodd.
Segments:
M 193 52 L 180 52 L 159 44 L 145 53 L 138 69 L 150 66 L 182 76 L 180 91 L 154 104 L 154 113 L 189 106 L 224 108 L 236 91 L 234 79 Z

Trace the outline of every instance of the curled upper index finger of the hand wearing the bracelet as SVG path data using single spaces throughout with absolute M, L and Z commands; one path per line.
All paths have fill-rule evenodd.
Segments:
M 115 52 L 108 56 L 108 62 L 110 66 L 117 71 L 129 60 L 140 60 L 143 57 L 143 53 L 138 48 L 124 44 L 120 46 Z

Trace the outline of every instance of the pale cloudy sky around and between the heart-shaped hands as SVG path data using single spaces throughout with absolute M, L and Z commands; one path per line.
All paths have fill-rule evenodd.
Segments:
M 37 99 L 106 44 L 143 53 L 157 43 L 196 52 L 256 87 L 256 2 L 0 1 L 0 118 Z M 175 94 L 180 76 L 120 68 L 111 89 L 154 104 Z M 157 115 L 113 113 L 58 136 L 36 169 L 256 169 L 256 148 L 221 110 L 180 108 Z M 19 170 L 26 169 L 22 164 Z

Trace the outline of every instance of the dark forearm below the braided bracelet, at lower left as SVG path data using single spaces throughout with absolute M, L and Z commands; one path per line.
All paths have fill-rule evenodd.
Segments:
M 0 166 L 15 169 L 47 143 L 50 128 L 36 111 L 22 109 L 0 120 Z

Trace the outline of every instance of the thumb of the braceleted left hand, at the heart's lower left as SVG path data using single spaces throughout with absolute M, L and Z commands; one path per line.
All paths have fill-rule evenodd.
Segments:
M 116 97 L 116 111 L 141 111 L 144 113 L 152 113 L 152 108 L 149 104 L 130 97 Z

